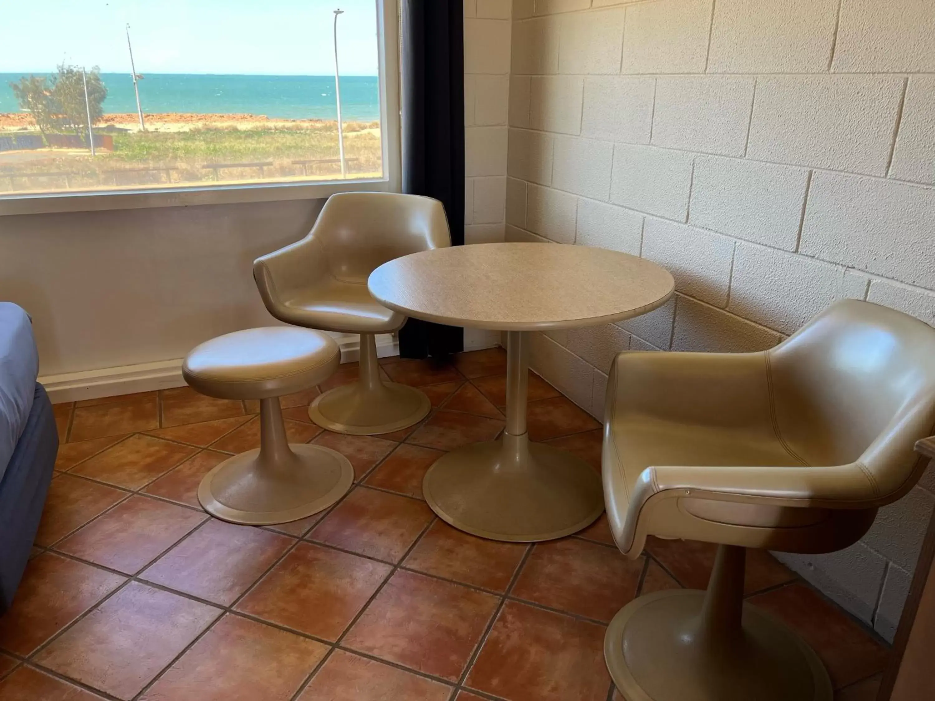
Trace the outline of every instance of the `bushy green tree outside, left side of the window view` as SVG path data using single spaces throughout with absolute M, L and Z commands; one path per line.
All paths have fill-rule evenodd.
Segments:
M 60 65 L 58 73 L 51 79 L 30 76 L 9 86 L 20 107 L 33 115 L 43 135 L 50 131 L 72 131 L 87 140 L 88 109 L 90 107 L 92 124 L 99 122 L 104 116 L 103 105 L 108 96 L 108 89 L 96 65 L 87 78 L 87 102 L 84 76 L 74 65 Z

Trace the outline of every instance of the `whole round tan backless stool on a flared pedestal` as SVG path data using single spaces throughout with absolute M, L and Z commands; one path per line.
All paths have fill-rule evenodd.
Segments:
M 182 377 L 221 399 L 260 400 L 260 448 L 212 469 L 198 486 L 209 514 L 232 523 L 298 521 L 351 489 L 353 468 L 324 446 L 290 444 L 280 397 L 307 390 L 338 368 L 338 344 L 319 331 L 275 326 L 212 338 L 192 350 Z

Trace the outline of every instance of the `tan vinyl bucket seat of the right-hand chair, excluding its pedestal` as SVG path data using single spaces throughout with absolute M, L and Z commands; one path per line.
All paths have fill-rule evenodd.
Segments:
M 935 329 L 833 305 L 756 353 L 623 352 L 611 366 L 603 480 L 611 531 L 793 552 L 856 542 L 906 494 L 935 433 Z

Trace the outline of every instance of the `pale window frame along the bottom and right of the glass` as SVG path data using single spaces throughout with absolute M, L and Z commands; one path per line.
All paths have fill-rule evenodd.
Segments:
M 192 207 L 245 202 L 326 199 L 335 193 L 399 192 L 402 186 L 402 145 L 399 96 L 398 0 L 374 0 L 377 6 L 380 118 L 383 177 L 381 179 L 268 182 L 242 185 L 193 185 L 138 190 L 0 195 L 0 216 L 53 212 L 106 211 L 150 207 Z

